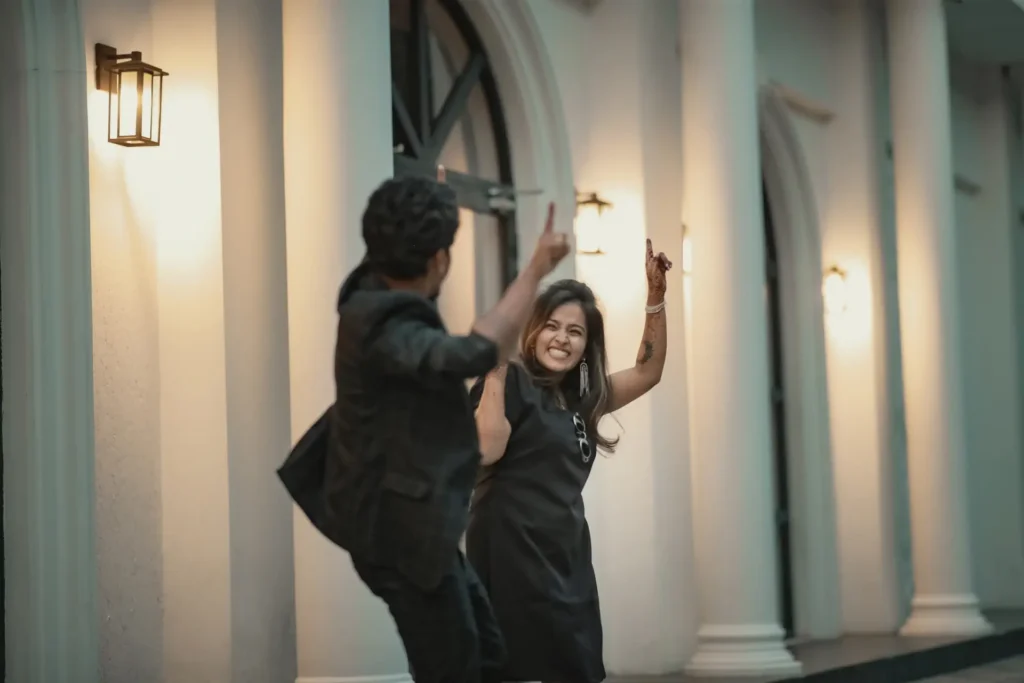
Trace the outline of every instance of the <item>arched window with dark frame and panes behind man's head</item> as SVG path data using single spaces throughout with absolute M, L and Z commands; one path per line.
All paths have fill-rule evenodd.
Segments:
M 390 11 L 394 172 L 433 177 L 442 164 L 456 190 L 462 223 L 439 304 L 461 331 L 516 274 L 505 115 L 483 44 L 457 0 L 390 0 Z

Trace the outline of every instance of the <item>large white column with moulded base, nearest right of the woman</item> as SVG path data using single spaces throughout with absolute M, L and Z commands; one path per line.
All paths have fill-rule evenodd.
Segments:
M 686 670 L 793 674 L 776 595 L 754 3 L 683 0 L 680 20 L 700 600 Z

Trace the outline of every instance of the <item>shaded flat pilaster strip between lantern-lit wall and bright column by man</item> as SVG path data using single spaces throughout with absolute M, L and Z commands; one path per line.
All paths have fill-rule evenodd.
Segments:
M 275 473 L 292 424 L 284 37 L 281 0 L 244 2 L 216 0 L 232 676 L 285 683 L 296 642 L 283 636 L 295 618 L 292 500 Z

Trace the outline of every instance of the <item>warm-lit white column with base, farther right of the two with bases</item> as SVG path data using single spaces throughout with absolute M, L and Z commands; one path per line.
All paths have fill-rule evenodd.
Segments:
M 978 634 L 991 627 L 971 587 L 945 17 L 940 0 L 890 0 L 888 18 L 914 580 L 901 633 Z

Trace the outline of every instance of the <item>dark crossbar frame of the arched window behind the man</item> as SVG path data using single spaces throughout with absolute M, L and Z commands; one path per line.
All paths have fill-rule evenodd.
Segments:
M 481 137 L 493 147 L 487 154 L 497 172 L 446 166 L 446 182 L 459 206 L 497 219 L 504 287 L 517 270 L 516 194 L 505 114 L 483 43 L 458 0 L 390 0 L 390 12 L 394 173 L 434 177 L 454 131 L 482 101 L 489 133 Z M 434 78 L 437 45 L 455 72 L 443 88 Z

